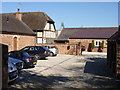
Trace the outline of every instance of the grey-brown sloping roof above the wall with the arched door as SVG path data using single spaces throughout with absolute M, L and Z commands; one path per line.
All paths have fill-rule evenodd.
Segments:
M 11 15 L 0 14 L 0 32 L 6 34 L 35 35 L 35 33 L 23 22 Z

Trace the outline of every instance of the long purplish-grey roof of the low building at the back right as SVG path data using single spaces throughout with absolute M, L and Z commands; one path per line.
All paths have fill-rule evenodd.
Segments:
M 117 27 L 106 28 L 64 28 L 57 40 L 66 39 L 108 39 L 116 31 Z

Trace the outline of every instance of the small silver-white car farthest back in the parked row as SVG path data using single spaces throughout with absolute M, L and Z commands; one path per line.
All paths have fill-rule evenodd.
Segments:
M 58 48 L 54 45 L 43 45 L 42 47 L 51 51 L 50 56 L 56 56 L 58 54 Z

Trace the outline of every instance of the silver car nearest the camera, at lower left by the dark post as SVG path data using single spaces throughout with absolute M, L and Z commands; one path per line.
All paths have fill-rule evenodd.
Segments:
M 8 83 L 18 78 L 18 70 L 15 65 L 8 62 Z

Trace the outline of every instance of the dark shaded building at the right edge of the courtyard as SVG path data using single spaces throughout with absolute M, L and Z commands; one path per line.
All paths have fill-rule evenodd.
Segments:
M 120 78 L 120 27 L 119 31 L 108 39 L 107 63 L 116 77 Z

